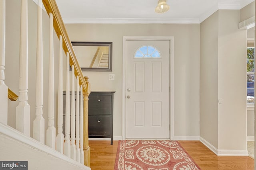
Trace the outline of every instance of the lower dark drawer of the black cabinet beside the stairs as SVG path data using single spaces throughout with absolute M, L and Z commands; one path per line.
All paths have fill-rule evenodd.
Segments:
M 89 115 L 89 136 L 110 136 L 111 116 Z

